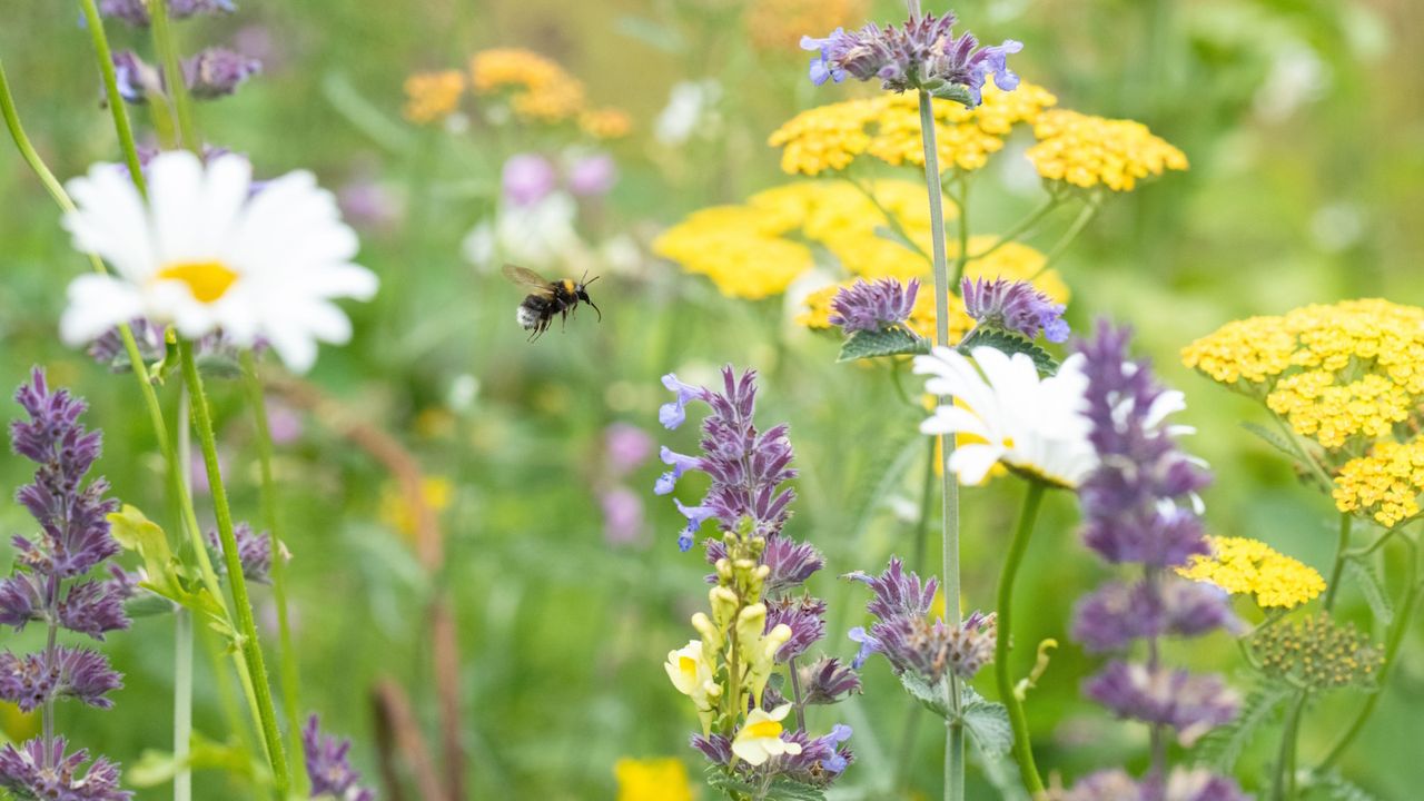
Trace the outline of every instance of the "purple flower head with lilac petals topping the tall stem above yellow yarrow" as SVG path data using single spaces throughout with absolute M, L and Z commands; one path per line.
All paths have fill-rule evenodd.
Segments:
M 980 104 L 984 81 L 1005 91 L 1018 87 L 1018 76 L 1008 68 L 1008 56 L 1024 46 L 1005 40 L 994 47 L 980 47 L 974 34 L 954 36 L 954 14 L 911 13 L 900 26 L 867 24 L 856 31 L 836 29 L 830 36 L 802 37 L 802 50 L 815 51 L 810 80 L 816 86 L 846 77 L 859 81 L 880 78 L 890 91 L 926 90 L 974 107 Z

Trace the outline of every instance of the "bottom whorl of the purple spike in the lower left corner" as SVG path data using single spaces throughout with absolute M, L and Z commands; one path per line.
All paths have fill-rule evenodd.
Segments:
M 53 741 L 36 737 L 19 748 L 0 750 L 0 787 L 21 798 L 56 801 L 128 801 L 132 792 L 118 788 L 118 765 L 98 757 L 83 774 L 88 751 L 80 748 L 66 755 L 63 737 Z

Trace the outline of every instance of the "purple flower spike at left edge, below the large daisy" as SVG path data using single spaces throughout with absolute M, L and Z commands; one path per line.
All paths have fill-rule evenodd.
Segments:
M 117 503 L 104 497 L 108 483 L 85 477 L 101 449 L 100 432 L 80 422 L 87 405 L 64 389 L 51 391 L 36 369 L 16 392 L 28 419 L 10 423 L 14 453 L 37 465 L 34 480 L 17 493 L 34 516 L 38 533 L 16 536 L 16 570 L 0 582 L 0 623 L 17 630 L 30 623 L 47 626 L 50 641 L 60 629 L 103 640 L 108 631 L 128 629 L 124 599 L 127 582 L 85 579 L 94 567 L 118 553 L 110 536 L 108 513 Z M 0 700 L 21 711 L 54 714 L 54 701 L 74 698 L 108 708 L 108 693 L 122 686 L 98 651 L 63 644 L 31 653 L 0 653 Z M 66 755 L 64 737 L 41 735 L 0 750 L 0 787 L 20 798 L 125 801 L 118 790 L 118 765 L 104 757 L 80 768 L 88 753 Z

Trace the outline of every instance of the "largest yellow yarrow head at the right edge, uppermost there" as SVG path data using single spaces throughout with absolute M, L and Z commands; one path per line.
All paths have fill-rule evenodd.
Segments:
M 1303 306 L 1227 324 L 1182 361 L 1263 398 L 1324 448 L 1361 453 L 1424 402 L 1424 309 L 1380 299 Z

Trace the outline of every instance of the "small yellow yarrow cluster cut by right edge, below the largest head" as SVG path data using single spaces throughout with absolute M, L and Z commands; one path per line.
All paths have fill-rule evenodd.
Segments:
M 1384 440 L 1340 467 L 1333 497 L 1340 512 L 1360 512 L 1384 527 L 1420 513 L 1424 492 L 1424 442 Z

